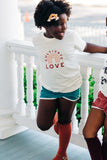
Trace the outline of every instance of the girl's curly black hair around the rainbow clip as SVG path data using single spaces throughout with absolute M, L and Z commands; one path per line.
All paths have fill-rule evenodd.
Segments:
M 65 13 L 68 18 L 71 14 L 71 5 L 65 0 L 41 0 L 34 13 L 34 22 L 38 28 L 57 25 L 58 21 L 47 22 L 50 14 L 57 15 Z

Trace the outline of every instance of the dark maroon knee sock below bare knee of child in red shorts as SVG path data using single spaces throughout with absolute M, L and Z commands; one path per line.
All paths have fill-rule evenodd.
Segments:
M 103 160 L 102 146 L 97 137 L 85 138 L 92 160 Z

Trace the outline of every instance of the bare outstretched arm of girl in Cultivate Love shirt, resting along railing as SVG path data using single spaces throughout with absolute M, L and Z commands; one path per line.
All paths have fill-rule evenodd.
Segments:
M 95 44 L 87 43 L 84 52 L 89 53 L 107 53 L 107 47 L 98 46 Z

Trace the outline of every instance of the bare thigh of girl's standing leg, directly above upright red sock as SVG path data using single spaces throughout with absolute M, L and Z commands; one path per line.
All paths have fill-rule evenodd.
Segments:
M 70 101 L 64 98 L 58 99 L 58 121 L 61 124 L 71 122 L 73 110 L 77 101 Z

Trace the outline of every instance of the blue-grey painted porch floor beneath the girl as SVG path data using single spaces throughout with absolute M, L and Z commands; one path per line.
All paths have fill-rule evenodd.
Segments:
M 0 140 L 0 160 L 52 160 L 58 139 L 37 131 L 26 130 Z M 69 144 L 69 160 L 90 160 L 87 149 Z

